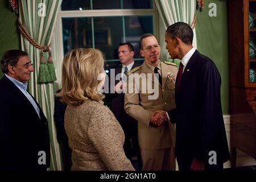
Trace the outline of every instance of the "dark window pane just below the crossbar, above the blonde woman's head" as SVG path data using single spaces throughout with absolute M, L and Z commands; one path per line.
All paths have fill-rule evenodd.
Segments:
M 64 55 L 73 48 L 92 47 L 91 18 L 63 18 Z

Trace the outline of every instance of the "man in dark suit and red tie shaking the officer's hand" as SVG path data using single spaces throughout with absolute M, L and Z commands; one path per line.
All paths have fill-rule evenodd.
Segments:
M 183 22 L 166 30 L 166 49 L 180 59 L 175 84 L 176 156 L 180 170 L 221 170 L 229 160 L 221 109 L 221 77 L 209 57 L 192 46 L 192 28 Z

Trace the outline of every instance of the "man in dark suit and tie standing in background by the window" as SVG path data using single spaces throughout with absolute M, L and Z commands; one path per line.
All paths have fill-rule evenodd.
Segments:
M 121 43 L 118 47 L 118 57 L 121 62 L 119 67 L 114 69 L 114 77 L 109 76 L 110 80 L 115 80 L 115 78 L 120 77 L 120 79 L 115 80 L 115 85 L 111 85 L 109 93 L 105 93 L 107 98 L 112 98 L 111 110 L 114 113 L 115 117 L 119 121 L 122 129 L 125 133 L 125 144 L 123 149 L 127 158 L 131 159 L 134 155 L 137 155 L 139 168 L 141 168 L 141 154 L 139 151 L 138 144 L 138 122 L 126 114 L 125 109 L 123 108 L 125 103 L 125 95 L 123 89 L 126 88 L 126 73 L 131 69 L 138 67 L 140 64 L 134 62 L 134 47 L 130 43 Z M 111 71 L 110 71 L 111 73 Z M 113 88 L 112 88 L 113 87 Z M 114 91 L 114 93 L 113 93 Z M 132 147 L 133 146 L 133 147 Z

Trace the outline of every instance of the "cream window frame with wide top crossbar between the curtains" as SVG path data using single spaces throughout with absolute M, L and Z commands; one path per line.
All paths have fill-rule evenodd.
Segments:
M 98 16 L 136 16 L 136 15 L 152 15 L 153 19 L 153 31 L 156 37 L 159 37 L 159 14 L 156 9 L 155 1 L 152 0 L 152 9 L 111 9 L 111 10 L 75 10 L 75 11 L 60 11 L 57 15 L 55 30 L 52 34 L 52 56 L 55 61 L 56 77 L 55 82 L 56 88 L 61 88 L 61 67 L 64 59 L 64 47 L 63 47 L 63 26 L 62 18 L 72 17 L 98 17 Z M 143 60 L 143 59 L 135 59 Z M 107 60 L 110 61 L 119 61 Z

